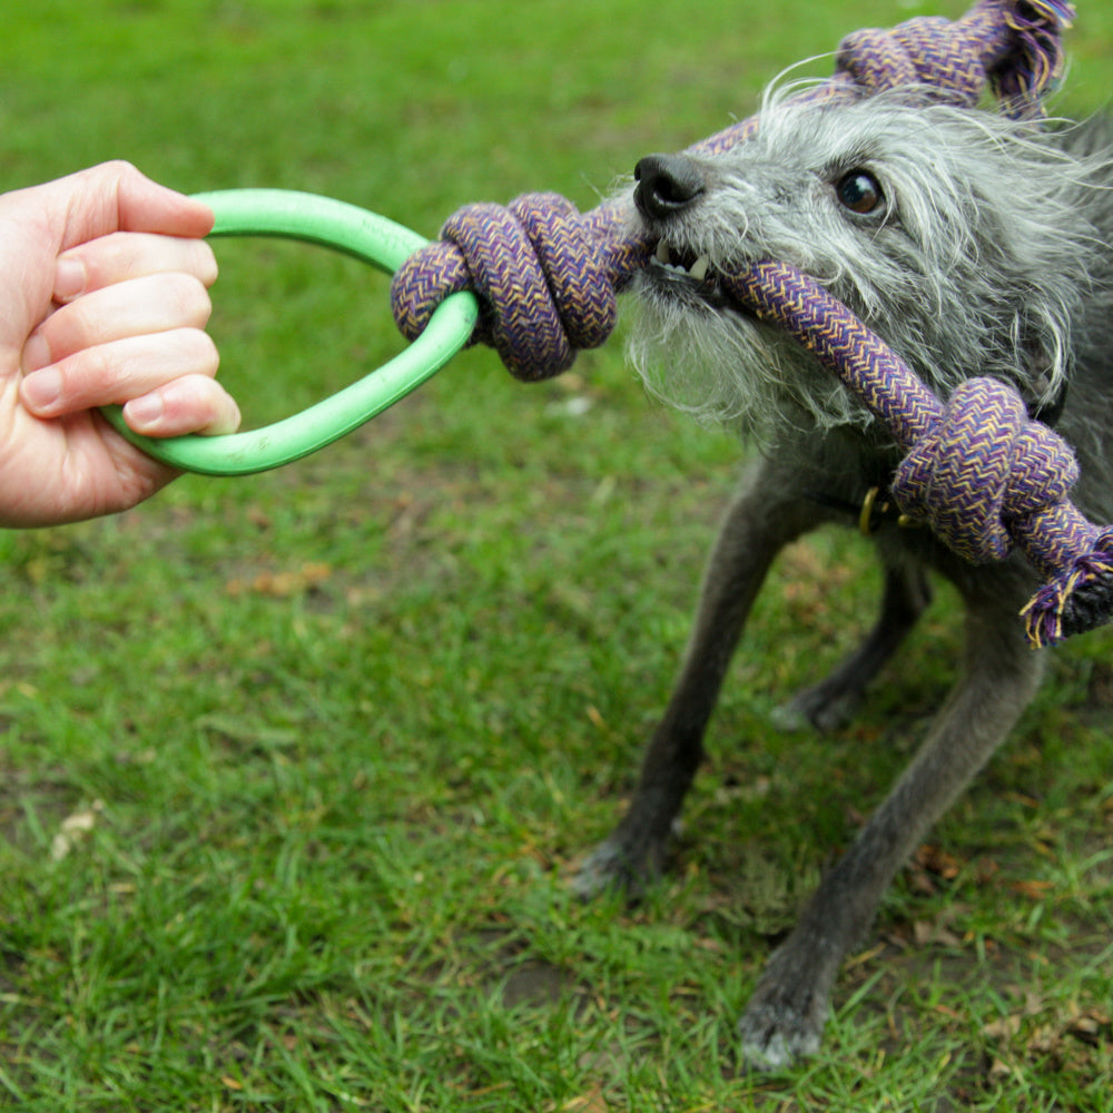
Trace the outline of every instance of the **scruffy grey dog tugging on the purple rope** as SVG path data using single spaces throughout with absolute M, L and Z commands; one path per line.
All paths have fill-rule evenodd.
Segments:
M 937 97 L 936 97 L 937 99 Z M 631 343 L 652 388 L 739 422 L 762 459 L 722 524 L 686 659 L 614 833 L 575 885 L 637 886 L 662 865 L 730 656 L 778 551 L 853 522 L 898 453 L 796 342 L 731 302 L 721 273 L 760 259 L 819 278 L 937 394 L 975 375 L 1017 386 L 1075 449 L 1076 505 L 1113 521 L 1113 150 L 1102 122 L 1040 131 L 915 90 L 821 110 L 771 95 L 755 138 L 727 154 L 650 156 L 640 219 L 660 239 L 634 288 Z M 818 1047 L 833 983 L 894 874 L 1008 733 L 1043 653 L 1018 611 L 1037 587 L 1023 558 L 973 567 L 922 528 L 867 514 L 884 569 L 876 626 L 786 716 L 843 723 L 924 610 L 928 571 L 965 604 L 958 679 L 915 759 L 796 929 L 741 1018 L 745 1061 L 779 1067 Z

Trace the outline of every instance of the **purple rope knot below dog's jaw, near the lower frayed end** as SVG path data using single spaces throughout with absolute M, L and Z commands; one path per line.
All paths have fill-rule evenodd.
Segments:
M 1078 465 L 1066 442 L 1028 420 L 994 378 L 973 378 L 900 462 L 893 496 L 972 563 L 1004 560 L 1025 523 L 1066 501 Z

